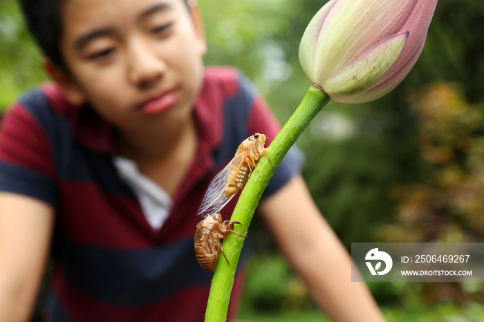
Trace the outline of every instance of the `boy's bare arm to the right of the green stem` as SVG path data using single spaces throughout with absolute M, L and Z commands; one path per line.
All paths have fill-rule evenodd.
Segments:
M 259 211 L 315 303 L 333 321 L 385 321 L 366 285 L 351 282 L 351 258 L 301 176 L 261 202 Z

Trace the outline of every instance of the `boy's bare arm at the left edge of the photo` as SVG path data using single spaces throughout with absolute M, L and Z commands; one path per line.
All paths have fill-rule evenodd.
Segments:
M 28 321 L 44 273 L 54 211 L 0 192 L 0 321 Z

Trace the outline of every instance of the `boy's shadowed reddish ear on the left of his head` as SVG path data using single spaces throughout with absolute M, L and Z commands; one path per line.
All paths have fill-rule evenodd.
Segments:
M 50 59 L 44 59 L 44 69 L 47 74 L 62 89 L 62 93 L 73 106 L 81 106 L 86 103 L 86 96 L 82 93 L 81 88 L 76 84 L 71 75 L 68 75 L 64 70 L 55 66 Z

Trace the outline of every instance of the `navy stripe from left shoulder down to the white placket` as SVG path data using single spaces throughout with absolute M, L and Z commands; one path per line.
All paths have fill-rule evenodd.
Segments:
M 61 180 L 96 182 L 103 191 L 134 196 L 131 189 L 120 180 L 111 156 L 87 149 L 77 142 L 66 115 L 57 115 L 50 108 L 44 93 L 39 90 L 30 91 L 19 103 L 46 133 L 57 176 Z

